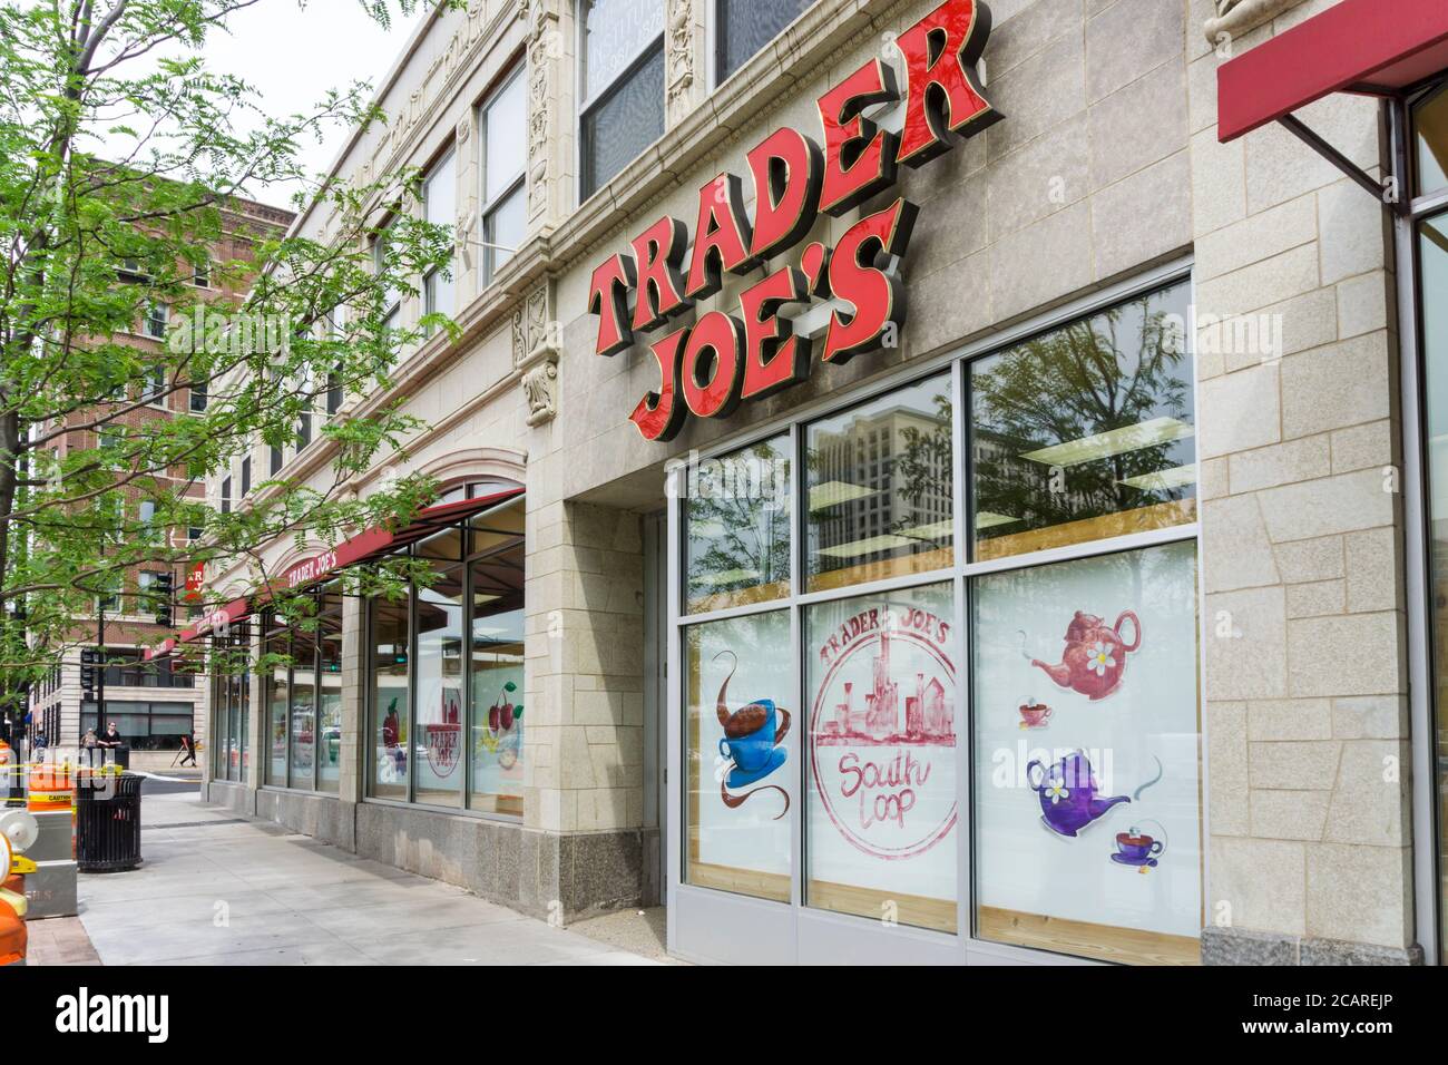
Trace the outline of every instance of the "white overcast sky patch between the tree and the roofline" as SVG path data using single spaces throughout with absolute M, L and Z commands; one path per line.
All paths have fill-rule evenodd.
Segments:
M 232 16 L 229 33 L 207 36 L 206 58 L 217 72 L 256 85 L 269 114 L 310 110 L 329 88 L 369 81 L 374 91 L 391 70 L 426 7 L 382 29 L 358 0 L 262 0 Z M 346 130 L 334 128 L 323 143 L 303 145 L 310 171 L 324 171 L 340 151 Z M 285 207 L 295 190 L 268 188 L 258 199 Z

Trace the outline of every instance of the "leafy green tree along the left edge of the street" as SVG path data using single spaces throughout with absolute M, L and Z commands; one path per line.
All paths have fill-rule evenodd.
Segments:
M 0 4 L 0 697 L 12 703 L 78 642 L 96 596 L 140 567 L 249 559 L 265 584 L 261 549 L 277 538 L 407 522 L 434 491 L 401 477 L 362 501 L 339 494 L 417 427 L 394 407 L 320 430 L 336 445 L 326 487 L 262 481 L 229 513 L 187 494 L 258 440 L 291 439 L 329 387 L 387 388 L 398 351 L 455 329 L 385 319 L 390 294 L 416 293 L 452 258 L 453 235 L 418 220 L 418 174 L 349 185 L 300 161 L 334 123 L 384 120 L 368 87 L 278 117 L 246 81 L 207 68 L 207 38 L 262 1 Z M 384 25 L 394 9 L 358 1 Z M 326 242 L 258 235 L 249 261 L 209 262 L 239 197 L 281 188 L 330 214 Z M 240 306 L 209 306 L 198 268 L 240 287 Z M 125 335 L 159 304 L 172 325 L 149 351 Z M 200 388 L 201 413 L 138 414 Z M 67 435 L 85 446 L 54 459 Z M 193 527 L 198 545 L 158 533 Z M 398 564 L 356 580 L 395 591 L 408 575 Z M 306 611 L 284 591 L 275 606 Z

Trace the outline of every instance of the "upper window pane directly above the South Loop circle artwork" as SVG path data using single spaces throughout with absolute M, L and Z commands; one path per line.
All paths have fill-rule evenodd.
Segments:
M 807 440 L 809 591 L 953 564 L 950 374 L 817 422 Z

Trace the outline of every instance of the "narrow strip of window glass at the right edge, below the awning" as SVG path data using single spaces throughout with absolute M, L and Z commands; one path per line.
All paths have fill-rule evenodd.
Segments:
M 1428 532 L 1438 742 L 1438 853 L 1448 862 L 1448 214 L 1419 230 L 1418 306 L 1423 323 L 1423 416 L 1428 429 Z M 1444 909 L 1448 935 L 1448 907 Z

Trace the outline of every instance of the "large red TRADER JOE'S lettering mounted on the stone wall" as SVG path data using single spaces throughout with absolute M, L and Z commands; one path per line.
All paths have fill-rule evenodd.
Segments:
M 946 0 L 895 39 L 905 68 L 899 133 L 863 114 L 901 100 L 895 68 L 870 59 L 820 97 L 824 148 L 796 129 L 780 128 L 746 154 L 754 184 L 754 214 L 744 209 L 743 183 L 718 174 L 699 188 L 694 251 L 688 227 L 665 216 L 601 262 L 589 283 L 588 310 L 598 314 L 599 355 L 615 355 L 714 296 L 723 274 L 747 274 L 792 251 L 818 212 L 846 214 L 895 184 L 899 164 L 919 167 L 956 136 L 998 122 L 982 96 L 976 62 L 990 32 L 980 0 Z M 659 390 L 628 416 L 650 440 L 672 439 L 689 413 L 727 417 L 741 400 L 756 400 L 809 375 L 811 343 L 792 333 L 779 310 L 791 303 L 833 298 L 820 361 L 844 364 L 882 346 L 905 320 L 888 256 L 904 256 L 917 207 L 905 199 L 860 217 L 831 248 L 814 241 L 795 262 L 740 293 L 737 314 L 710 310 L 649 343 L 659 362 Z M 634 297 L 630 313 L 628 300 Z M 844 307 L 849 307 L 846 310 Z

